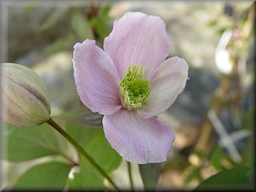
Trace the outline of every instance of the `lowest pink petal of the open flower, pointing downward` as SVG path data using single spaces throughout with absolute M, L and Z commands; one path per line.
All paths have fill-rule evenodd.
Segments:
M 165 161 L 175 138 L 157 119 L 143 119 L 125 109 L 104 115 L 103 128 L 110 145 L 125 160 L 138 164 Z

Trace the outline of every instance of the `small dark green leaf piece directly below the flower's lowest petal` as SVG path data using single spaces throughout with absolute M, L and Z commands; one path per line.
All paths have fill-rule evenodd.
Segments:
M 154 189 L 160 177 L 161 164 L 141 164 L 139 165 L 139 171 L 143 178 L 143 184 L 145 189 Z

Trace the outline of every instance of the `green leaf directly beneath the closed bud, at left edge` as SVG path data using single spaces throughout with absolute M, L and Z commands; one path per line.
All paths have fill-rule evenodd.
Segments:
M 10 161 L 32 160 L 49 154 L 60 154 L 67 147 L 66 141 L 49 125 L 20 128 L 6 125 L 3 129 L 6 156 Z

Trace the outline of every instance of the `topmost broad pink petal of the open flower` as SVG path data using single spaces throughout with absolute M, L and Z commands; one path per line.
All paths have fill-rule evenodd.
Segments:
M 160 17 L 126 13 L 114 21 L 113 31 L 104 41 L 104 50 L 113 59 L 119 77 L 129 65 L 144 65 L 148 78 L 154 75 L 170 51 L 166 25 Z

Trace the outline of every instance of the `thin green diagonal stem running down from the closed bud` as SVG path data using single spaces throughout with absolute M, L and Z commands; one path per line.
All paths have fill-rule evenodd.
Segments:
M 85 158 L 86 160 L 88 160 L 88 161 L 90 162 L 90 164 L 91 164 L 92 166 L 94 166 L 94 167 L 96 168 L 96 170 L 102 174 L 103 177 L 106 177 L 106 178 L 108 179 L 109 183 L 112 183 L 112 184 L 113 184 L 113 187 L 114 187 L 115 189 L 117 189 L 118 191 L 120 191 L 119 188 L 116 186 L 116 184 L 113 183 L 113 180 L 108 176 L 108 174 L 107 174 L 106 172 L 104 172 L 103 169 L 102 169 L 102 167 L 99 166 L 99 165 L 96 163 L 96 161 L 93 160 L 93 159 L 90 157 L 90 155 L 87 154 L 87 153 L 84 151 L 84 149 L 79 145 L 79 143 L 77 143 L 72 137 L 70 137 L 66 131 L 64 131 L 63 129 L 61 129 L 61 127 L 60 127 L 59 125 L 57 125 L 53 119 L 49 118 L 49 120 L 47 121 L 47 123 L 48 123 L 49 125 L 51 125 L 56 131 L 58 131 L 58 132 L 61 134 L 61 136 L 65 137 L 68 142 L 72 143 L 72 144 L 73 144 L 73 147 L 75 147 L 75 148 L 79 151 L 79 153 L 82 154 L 82 155 L 84 156 L 84 158 Z

